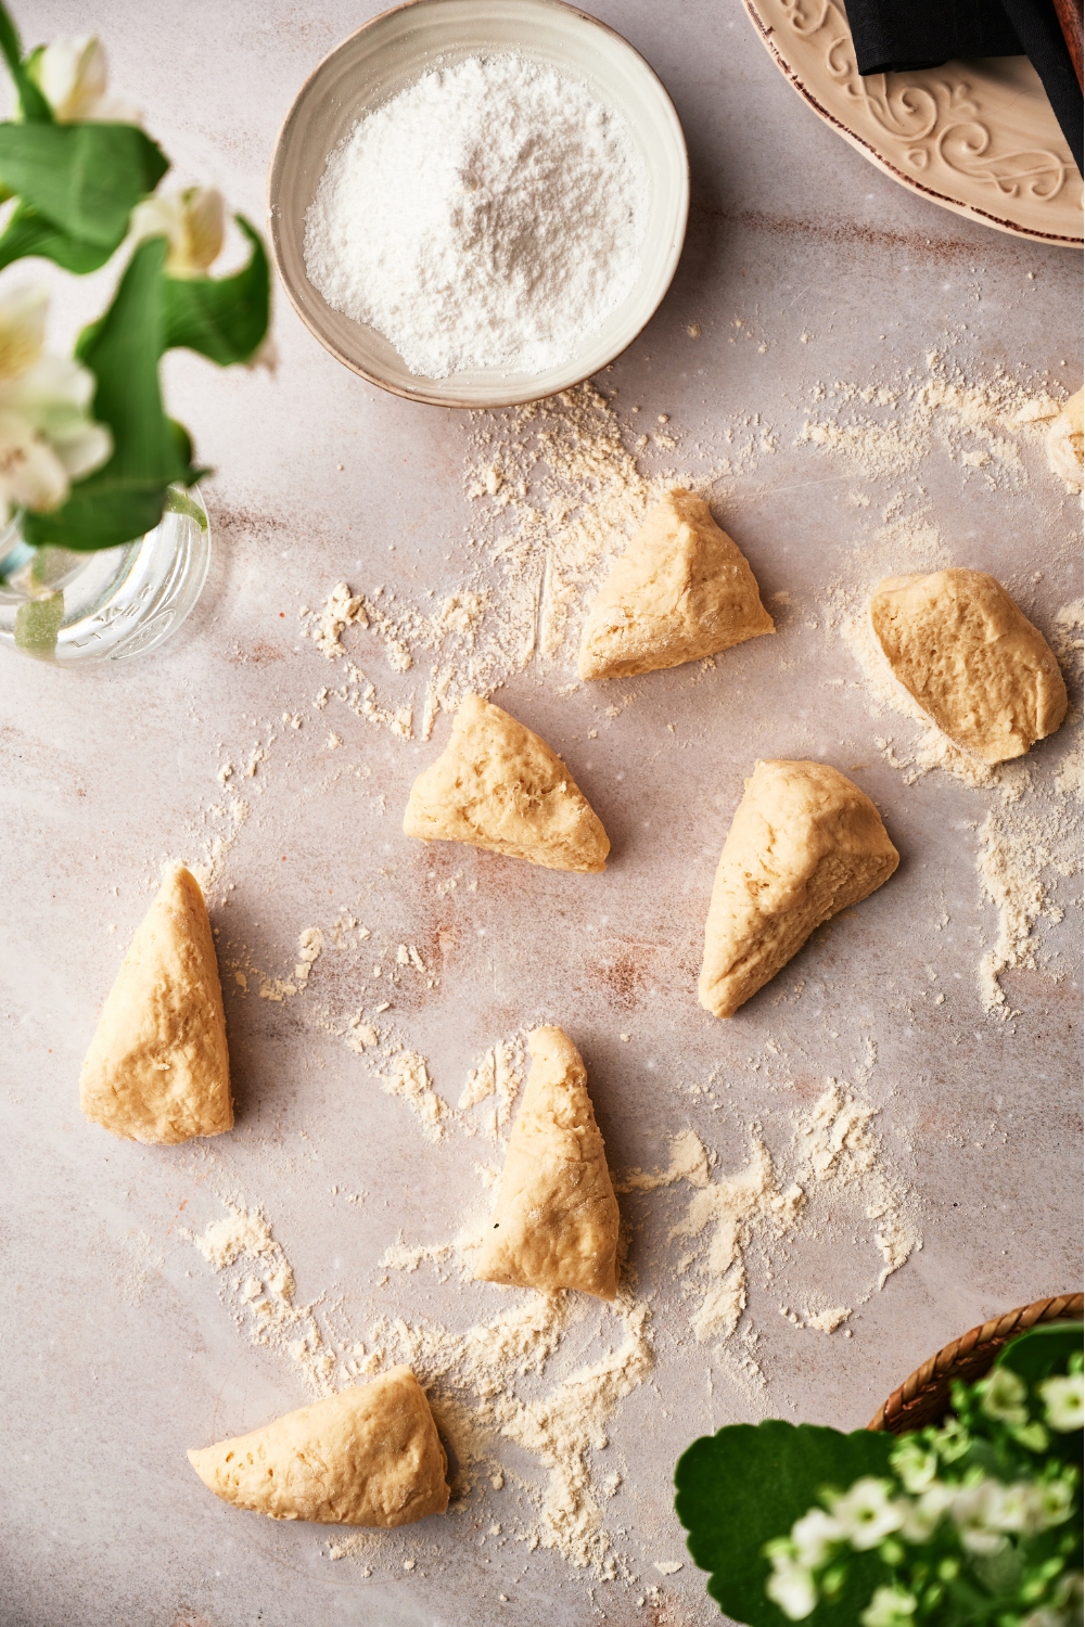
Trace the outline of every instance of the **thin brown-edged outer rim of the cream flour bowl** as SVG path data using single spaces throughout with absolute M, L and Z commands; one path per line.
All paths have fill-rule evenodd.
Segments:
M 384 11 L 377 11 L 376 16 L 368 18 L 359 28 L 356 28 L 350 34 L 346 34 L 345 39 L 340 39 L 340 42 L 337 46 L 333 46 L 332 50 L 329 50 L 317 62 L 317 65 L 312 68 L 312 72 L 306 76 L 306 80 L 303 81 L 303 85 L 298 88 L 298 91 L 296 91 L 296 94 L 294 94 L 294 98 L 293 98 L 293 101 L 290 104 L 290 107 L 286 111 L 286 117 L 283 119 L 283 122 L 281 122 L 281 125 L 278 129 L 278 135 L 275 137 L 275 146 L 272 150 L 272 161 L 270 161 L 268 171 L 267 171 L 265 210 L 267 210 L 268 238 L 270 238 L 270 244 L 272 244 L 272 260 L 275 264 L 275 270 L 277 270 L 278 280 L 280 280 L 280 283 L 281 283 L 281 286 L 283 286 L 283 290 L 286 293 L 286 298 L 290 299 L 291 306 L 294 308 L 294 311 L 301 317 L 303 324 L 309 329 L 309 332 L 312 334 L 312 337 L 316 340 L 319 340 L 319 343 L 332 356 L 335 356 L 337 361 L 342 361 L 343 366 L 350 368 L 351 373 L 356 373 L 359 377 L 366 379 L 368 384 L 376 384 L 377 389 L 389 390 L 392 395 L 400 395 L 400 397 L 403 397 L 403 400 L 423 402 L 423 403 L 433 405 L 433 407 L 464 407 L 464 408 L 468 408 L 468 410 L 480 410 L 480 408 L 481 410 L 490 410 L 490 408 L 498 408 L 498 407 L 521 407 L 521 405 L 527 405 L 529 402 L 545 400 L 548 395 L 555 394 L 555 387 L 547 387 L 547 389 L 537 390 L 537 392 L 530 392 L 530 390 L 521 389 L 521 390 L 516 390 L 512 394 L 501 394 L 501 392 L 495 390 L 493 399 L 486 399 L 486 400 L 480 400 L 478 397 L 475 397 L 475 399 L 459 399 L 459 397 L 449 397 L 449 395 L 429 395 L 425 390 L 402 389 L 394 379 L 381 377 L 379 374 L 371 373 L 368 368 L 363 368 L 361 363 L 358 363 L 353 356 L 348 356 L 330 338 L 330 335 L 320 332 L 320 329 L 311 319 L 311 316 L 306 311 L 306 308 L 303 306 L 303 303 L 296 298 L 294 288 L 293 288 L 291 280 L 286 275 L 286 268 L 283 265 L 283 254 L 281 254 L 281 242 L 280 242 L 280 236 L 281 236 L 281 213 L 280 213 L 278 207 L 277 207 L 278 205 L 278 185 L 280 185 L 281 168 L 283 168 L 283 163 L 285 163 L 286 138 L 290 135 L 290 129 L 291 129 L 291 124 L 294 120 L 294 114 L 296 114 L 299 104 L 304 101 L 304 98 L 309 93 L 309 89 L 314 85 L 314 81 L 319 80 L 319 76 L 325 72 L 325 68 L 329 67 L 329 63 L 332 63 L 338 57 L 338 54 L 342 50 L 345 50 L 355 39 L 358 39 L 359 34 L 364 34 L 368 29 L 376 28 L 379 23 L 382 23 L 389 16 L 394 16 L 397 11 L 410 11 L 410 10 L 415 10 L 416 7 L 421 8 L 421 7 L 428 7 L 428 5 L 434 5 L 434 3 L 446 3 L 446 0 L 402 0 L 400 5 L 394 5 L 394 7 L 389 7 Z M 623 337 L 621 345 L 618 347 L 618 350 L 613 351 L 613 355 L 610 355 L 602 363 L 595 363 L 587 373 L 579 374 L 579 377 L 573 377 L 573 379 L 563 381 L 558 386 L 558 389 L 574 389 L 577 384 L 584 384 L 586 379 L 594 377 L 595 373 L 600 373 L 604 368 L 610 366 L 612 361 L 617 361 L 617 358 L 621 356 L 630 348 L 630 345 L 633 345 L 639 338 L 639 335 L 644 332 L 644 329 L 647 327 L 647 324 L 652 321 L 652 317 L 659 311 L 659 306 L 662 304 L 662 301 L 667 296 L 667 291 L 669 291 L 669 288 L 670 288 L 670 285 L 673 281 L 675 272 L 678 270 L 678 260 L 682 259 L 682 251 L 685 247 L 685 234 L 686 234 L 686 226 L 688 226 L 688 220 L 690 220 L 690 153 L 688 153 L 688 148 L 686 148 L 685 132 L 682 129 L 682 120 L 678 117 L 678 109 L 673 104 L 673 99 L 672 99 L 670 93 L 667 91 L 667 86 L 664 85 L 664 81 L 656 73 L 656 70 L 652 68 L 651 62 L 647 62 L 647 59 L 636 49 L 636 46 L 630 44 L 630 41 L 625 37 L 625 34 L 620 34 L 615 28 L 610 28 L 608 23 L 600 21 L 600 18 L 592 16 L 589 11 L 581 11 L 579 7 L 569 5 L 568 0 L 534 0 L 534 3 L 540 5 L 540 7 L 545 7 L 548 10 L 553 10 L 555 13 L 566 13 L 566 15 L 569 15 L 573 18 L 577 18 L 582 23 L 590 24 L 592 28 L 599 29 L 600 34 L 608 34 L 610 39 L 615 42 L 615 46 L 618 49 L 630 52 L 630 55 L 633 55 L 633 57 L 636 57 L 639 60 L 643 63 L 643 67 L 646 68 L 646 72 L 656 81 L 656 85 L 659 88 L 660 98 L 665 101 L 665 104 L 670 107 L 670 112 L 673 114 L 675 132 L 677 132 L 678 145 L 680 145 L 680 151 L 682 151 L 683 197 L 682 197 L 682 208 L 680 208 L 680 215 L 678 215 L 678 229 L 675 231 L 673 247 L 672 247 L 672 252 L 670 252 L 670 255 L 667 259 L 664 275 L 660 275 L 660 278 L 659 278 L 656 298 L 654 298 L 654 301 L 651 304 L 651 309 L 646 312 L 644 321 L 639 324 L 639 327 L 636 327 L 634 332 L 628 334 L 628 337 Z

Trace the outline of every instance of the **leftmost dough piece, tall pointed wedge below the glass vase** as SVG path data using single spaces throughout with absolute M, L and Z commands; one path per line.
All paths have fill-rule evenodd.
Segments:
M 80 1106 L 127 1141 L 233 1129 L 215 940 L 185 869 L 163 882 L 120 963 L 80 1074 Z

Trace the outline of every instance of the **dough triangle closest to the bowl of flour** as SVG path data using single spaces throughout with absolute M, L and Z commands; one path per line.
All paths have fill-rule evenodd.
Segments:
M 628 678 L 774 631 L 745 556 L 708 503 L 675 488 L 595 595 L 579 670 L 582 678 Z

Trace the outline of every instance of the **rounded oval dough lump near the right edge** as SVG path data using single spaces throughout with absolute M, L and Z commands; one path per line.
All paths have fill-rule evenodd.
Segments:
M 1048 639 L 986 571 L 887 576 L 870 625 L 908 693 L 984 763 L 1023 757 L 1065 718 Z

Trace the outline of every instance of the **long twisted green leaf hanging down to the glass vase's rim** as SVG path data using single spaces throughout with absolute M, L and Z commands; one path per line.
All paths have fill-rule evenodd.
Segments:
M 158 360 L 163 353 L 163 265 L 166 239 L 142 242 L 101 321 L 85 329 L 76 355 L 98 387 L 93 415 L 109 425 L 114 452 L 107 464 L 72 486 L 52 514 L 28 513 L 31 543 L 96 550 L 130 542 L 158 524 L 172 482 L 189 485 L 190 443 L 163 412 Z

